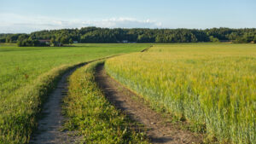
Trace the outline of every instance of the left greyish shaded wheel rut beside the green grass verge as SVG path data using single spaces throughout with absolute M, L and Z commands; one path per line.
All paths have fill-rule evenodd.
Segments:
M 65 120 L 61 114 L 61 100 L 67 95 L 67 78 L 75 69 L 65 73 L 58 82 L 57 88 L 49 95 L 42 111 L 44 118 L 38 121 L 38 130 L 32 135 L 31 144 L 76 143 L 79 140 L 78 136 L 71 136 L 74 132 L 61 131 Z

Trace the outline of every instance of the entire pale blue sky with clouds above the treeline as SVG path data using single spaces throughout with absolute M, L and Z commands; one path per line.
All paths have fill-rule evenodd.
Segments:
M 256 27 L 256 0 L 0 0 L 0 33 L 108 28 Z

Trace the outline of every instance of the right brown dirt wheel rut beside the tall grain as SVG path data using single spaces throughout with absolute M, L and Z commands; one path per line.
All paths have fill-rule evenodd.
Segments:
M 148 128 L 147 135 L 152 143 L 201 143 L 201 136 L 178 130 L 174 125 L 168 124 L 166 118 L 145 106 L 142 98 L 110 78 L 103 65 L 96 67 L 96 82 L 102 87 L 108 101 L 124 111 L 131 119 Z

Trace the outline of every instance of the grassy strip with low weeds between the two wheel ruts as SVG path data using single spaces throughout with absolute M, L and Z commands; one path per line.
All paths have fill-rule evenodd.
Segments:
M 64 109 L 69 117 L 67 130 L 77 130 L 81 143 L 148 143 L 141 133 L 130 129 L 131 122 L 113 107 L 95 82 L 96 66 L 90 63 L 69 78 Z

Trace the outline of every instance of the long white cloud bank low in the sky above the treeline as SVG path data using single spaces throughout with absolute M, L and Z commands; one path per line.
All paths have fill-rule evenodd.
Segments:
M 0 33 L 34 32 L 62 28 L 97 26 L 109 28 L 160 28 L 162 24 L 154 20 L 134 18 L 111 18 L 105 20 L 61 20 L 46 16 L 25 16 L 20 14 L 0 14 Z

